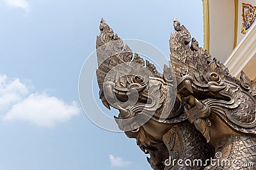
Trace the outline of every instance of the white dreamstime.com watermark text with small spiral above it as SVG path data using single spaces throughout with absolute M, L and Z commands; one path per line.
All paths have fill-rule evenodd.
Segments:
M 253 162 L 239 162 L 239 160 L 233 159 L 221 159 L 222 153 L 216 152 L 215 158 L 212 157 L 210 159 L 202 160 L 202 159 L 172 159 L 172 157 L 169 157 L 169 159 L 166 159 L 164 161 L 165 166 L 228 166 L 233 167 L 234 169 L 241 168 L 241 167 L 253 167 Z

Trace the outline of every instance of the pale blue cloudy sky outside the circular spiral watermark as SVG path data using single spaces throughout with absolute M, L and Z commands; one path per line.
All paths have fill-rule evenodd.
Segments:
M 150 169 L 134 139 L 100 129 L 79 104 L 101 17 L 166 56 L 173 17 L 203 44 L 200 0 L 0 0 L 0 170 Z

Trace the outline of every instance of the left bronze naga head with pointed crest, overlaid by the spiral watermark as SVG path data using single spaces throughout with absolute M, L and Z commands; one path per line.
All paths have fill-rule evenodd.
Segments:
M 170 67 L 165 65 L 163 74 L 159 73 L 154 64 L 124 45 L 103 19 L 96 48 L 99 96 L 104 106 L 120 111 L 115 117 L 120 129 L 136 131 L 150 119 L 161 123 L 186 120 Z

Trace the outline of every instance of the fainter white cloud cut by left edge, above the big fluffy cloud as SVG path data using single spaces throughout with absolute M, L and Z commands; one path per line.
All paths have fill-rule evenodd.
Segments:
M 29 87 L 21 83 L 19 78 L 9 80 L 5 74 L 0 74 L 0 111 L 19 102 L 28 93 Z

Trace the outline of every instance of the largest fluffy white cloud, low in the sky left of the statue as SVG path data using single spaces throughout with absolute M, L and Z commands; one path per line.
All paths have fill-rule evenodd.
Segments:
M 79 113 L 77 103 L 65 104 L 47 94 L 31 94 L 13 105 L 4 120 L 26 120 L 41 127 L 52 127 L 56 122 L 65 122 Z

